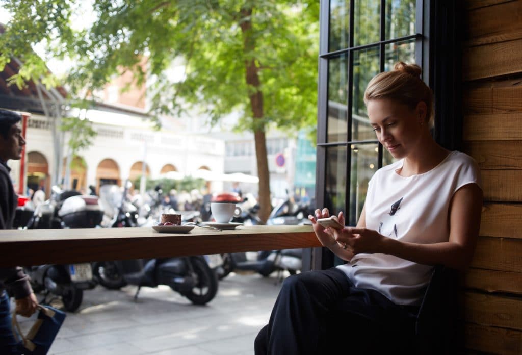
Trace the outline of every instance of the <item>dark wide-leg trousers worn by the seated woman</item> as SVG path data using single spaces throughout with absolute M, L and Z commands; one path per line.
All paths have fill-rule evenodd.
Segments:
M 411 353 L 417 311 L 355 287 L 337 268 L 306 271 L 284 280 L 255 353 Z

